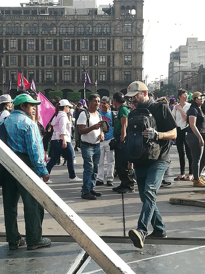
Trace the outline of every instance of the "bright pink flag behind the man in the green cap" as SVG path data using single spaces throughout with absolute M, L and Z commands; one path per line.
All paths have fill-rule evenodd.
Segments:
M 38 105 L 38 115 L 41 117 L 39 123 L 46 128 L 56 109 L 41 92 L 38 93 L 38 100 L 41 101 Z

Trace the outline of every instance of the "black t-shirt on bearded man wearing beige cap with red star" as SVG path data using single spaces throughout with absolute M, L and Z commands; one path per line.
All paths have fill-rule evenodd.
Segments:
M 158 132 L 167 132 L 173 130 L 177 127 L 174 116 L 167 104 L 161 104 L 155 111 L 152 113 L 155 118 L 157 131 Z M 158 160 L 169 162 L 169 150 L 171 147 L 170 140 L 159 140 L 159 145 L 161 148 L 161 153 Z

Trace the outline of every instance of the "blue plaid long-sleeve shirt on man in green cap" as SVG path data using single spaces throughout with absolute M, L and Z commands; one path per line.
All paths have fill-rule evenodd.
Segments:
M 14 152 L 28 154 L 38 176 L 45 177 L 48 171 L 44 160 L 43 142 L 37 124 L 22 110 L 13 110 L 4 124 L 8 146 Z

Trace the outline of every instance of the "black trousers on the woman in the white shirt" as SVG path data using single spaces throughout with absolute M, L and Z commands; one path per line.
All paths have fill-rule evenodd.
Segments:
M 187 128 L 181 129 L 179 126 L 177 127 L 176 145 L 177 145 L 177 151 L 179 153 L 179 164 L 180 164 L 181 175 L 185 174 L 185 152 L 186 152 L 186 157 L 189 163 L 189 174 L 192 174 L 192 154 L 186 142 L 186 130 Z

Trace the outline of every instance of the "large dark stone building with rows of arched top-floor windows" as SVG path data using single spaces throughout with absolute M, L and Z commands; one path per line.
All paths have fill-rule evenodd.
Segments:
M 92 81 L 87 91 L 101 96 L 125 93 L 130 82 L 142 80 L 143 1 L 114 0 L 100 8 L 94 1 L 39 1 L 0 7 L 4 93 L 11 76 L 15 94 L 19 66 L 38 90 L 62 90 L 64 98 L 83 91 L 83 65 Z M 0 92 L 2 80 L 0 67 Z

